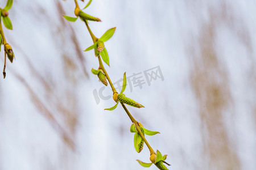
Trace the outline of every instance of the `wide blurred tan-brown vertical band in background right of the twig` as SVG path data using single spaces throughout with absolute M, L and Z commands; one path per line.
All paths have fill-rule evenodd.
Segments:
M 218 25 L 225 24 L 251 53 L 250 35 L 225 2 L 221 3 L 218 10 L 209 7 L 209 11 L 210 22 L 201 25 L 198 44 L 190 46 L 191 85 L 199 105 L 204 161 L 209 163 L 205 169 L 241 169 L 239 155 L 234 150 L 236 141 L 229 138 L 225 122 L 226 109 L 232 107 L 234 99 L 230 92 L 227 66 L 220 53 L 216 53 L 214 40 Z M 197 45 L 199 53 L 193 50 Z M 253 62 L 253 57 L 250 59 Z M 255 84 L 255 78 L 252 82 Z M 255 117 L 256 114 L 253 115 Z

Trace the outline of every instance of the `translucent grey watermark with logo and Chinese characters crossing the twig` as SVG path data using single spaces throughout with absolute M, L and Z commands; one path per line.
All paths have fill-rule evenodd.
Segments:
M 133 73 L 132 75 L 127 76 L 126 79 L 130 87 L 130 92 L 133 92 L 134 88 L 142 89 L 142 87 L 146 86 L 146 84 L 147 86 L 151 86 L 153 80 L 161 79 L 163 81 L 164 77 L 160 69 L 160 66 L 156 66 L 139 73 Z M 119 92 L 122 89 L 122 82 L 123 79 L 121 78 L 117 80 L 117 82 L 113 83 L 115 89 L 117 89 Z M 99 104 L 101 100 L 109 100 L 112 97 L 111 95 L 104 96 L 104 90 L 105 86 L 102 86 L 99 90 L 93 90 L 93 96 L 96 101 L 96 104 Z

